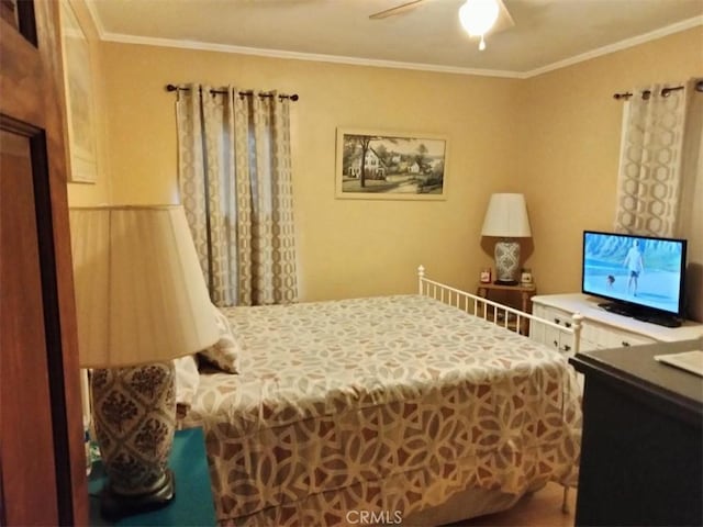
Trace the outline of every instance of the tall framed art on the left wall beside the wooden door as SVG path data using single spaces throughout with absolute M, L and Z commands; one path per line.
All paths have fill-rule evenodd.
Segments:
M 64 91 L 68 128 L 68 180 L 94 183 L 98 177 L 96 112 L 90 46 L 70 2 L 60 2 Z

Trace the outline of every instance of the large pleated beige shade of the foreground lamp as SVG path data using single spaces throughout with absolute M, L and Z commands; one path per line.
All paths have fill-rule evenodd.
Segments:
M 217 340 L 179 205 L 72 208 L 80 365 L 167 361 Z

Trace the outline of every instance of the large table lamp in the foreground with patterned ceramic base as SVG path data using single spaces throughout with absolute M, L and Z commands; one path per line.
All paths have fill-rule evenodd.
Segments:
M 217 340 L 202 270 L 178 205 L 72 208 L 80 366 L 91 368 L 105 518 L 167 505 L 176 427 L 172 359 Z

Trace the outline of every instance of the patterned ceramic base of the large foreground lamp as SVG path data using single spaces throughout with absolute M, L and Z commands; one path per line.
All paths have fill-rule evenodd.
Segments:
M 108 475 L 101 512 L 119 518 L 174 497 L 168 456 L 176 430 L 172 361 L 91 374 L 96 438 Z

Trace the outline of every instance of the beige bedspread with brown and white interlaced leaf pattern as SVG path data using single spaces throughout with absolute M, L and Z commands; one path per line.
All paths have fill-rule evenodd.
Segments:
M 393 523 L 468 486 L 576 484 L 566 358 L 420 295 L 223 310 L 241 373 L 203 373 L 221 523 Z M 352 514 L 352 516 L 350 516 Z

